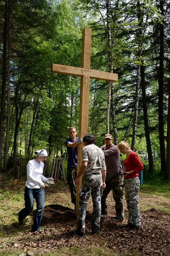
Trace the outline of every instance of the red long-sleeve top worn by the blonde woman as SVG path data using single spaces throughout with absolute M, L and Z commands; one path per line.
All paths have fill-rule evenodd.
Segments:
M 125 180 L 139 176 L 139 173 L 144 169 L 142 162 L 140 161 L 138 155 L 134 151 L 132 151 L 130 155 L 126 157 L 126 159 L 123 162 L 123 165 L 125 168 L 125 172 L 128 173 L 132 170 L 134 171 L 134 173 L 126 175 Z

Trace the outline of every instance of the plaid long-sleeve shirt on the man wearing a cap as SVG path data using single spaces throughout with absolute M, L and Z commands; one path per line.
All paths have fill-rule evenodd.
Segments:
M 110 179 L 122 171 L 122 165 L 120 164 L 120 151 L 113 143 L 110 144 L 110 148 L 107 148 L 106 145 L 103 145 L 100 148 L 105 154 L 106 175 Z

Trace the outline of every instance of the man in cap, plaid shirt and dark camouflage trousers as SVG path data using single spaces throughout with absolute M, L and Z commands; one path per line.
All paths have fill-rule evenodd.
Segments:
M 101 214 L 107 214 L 107 195 L 112 190 L 113 199 L 115 201 L 116 217 L 112 220 L 118 222 L 124 219 L 124 205 L 123 205 L 123 176 L 122 166 L 120 164 L 120 151 L 117 146 L 115 146 L 112 141 L 113 137 L 111 134 L 105 134 L 105 145 L 101 146 L 105 154 L 106 162 L 106 188 L 103 191 L 101 199 Z

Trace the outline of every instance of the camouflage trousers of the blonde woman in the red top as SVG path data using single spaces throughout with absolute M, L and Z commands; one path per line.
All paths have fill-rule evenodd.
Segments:
M 140 227 L 140 211 L 138 192 L 140 189 L 139 177 L 125 180 L 125 198 L 129 211 L 128 223 Z

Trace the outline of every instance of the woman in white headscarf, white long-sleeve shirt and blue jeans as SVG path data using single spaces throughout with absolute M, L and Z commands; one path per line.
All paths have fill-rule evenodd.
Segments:
M 44 162 L 47 157 L 47 151 L 40 149 L 35 152 L 37 157 L 30 160 L 26 166 L 27 170 L 27 181 L 25 184 L 24 200 L 25 208 L 18 213 L 19 224 L 23 224 L 24 219 L 33 211 L 34 199 L 36 201 L 37 209 L 35 212 L 34 223 L 31 231 L 41 232 L 40 223 L 44 211 L 45 202 L 45 184 L 54 184 L 53 178 L 46 178 L 43 174 Z

